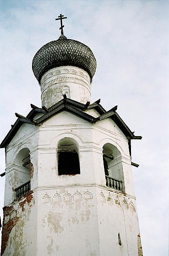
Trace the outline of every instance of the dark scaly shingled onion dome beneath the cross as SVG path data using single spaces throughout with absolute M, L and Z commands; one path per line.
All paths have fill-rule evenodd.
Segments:
M 40 83 L 42 75 L 60 66 L 74 66 L 85 70 L 92 81 L 96 60 L 90 48 L 78 41 L 61 35 L 57 40 L 43 45 L 32 60 L 32 70 Z

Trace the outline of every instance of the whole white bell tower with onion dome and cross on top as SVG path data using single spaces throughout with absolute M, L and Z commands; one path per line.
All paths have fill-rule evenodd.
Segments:
M 32 61 L 41 107 L 31 105 L 0 144 L 6 152 L 1 254 L 141 256 L 131 165 L 134 136 L 100 100 L 96 60 L 63 35 Z

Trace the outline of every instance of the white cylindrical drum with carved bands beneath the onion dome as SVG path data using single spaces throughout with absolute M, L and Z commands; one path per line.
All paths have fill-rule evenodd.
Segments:
M 40 81 L 42 106 L 50 107 L 63 98 L 85 104 L 90 101 L 90 77 L 78 67 L 64 66 L 48 70 Z

